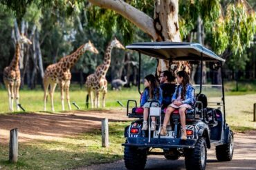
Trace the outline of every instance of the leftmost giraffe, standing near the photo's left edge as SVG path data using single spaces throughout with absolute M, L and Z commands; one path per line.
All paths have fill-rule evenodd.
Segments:
M 10 65 L 3 70 L 3 82 L 8 90 L 9 110 L 13 111 L 13 98 L 17 111 L 19 111 L 19 86 L 21 85 L 21 73 L 19 71 L 19 56 L 21 44 L 32 44 L 31 41 L 21 34 L 16 42 L 15 57 L 12 59 Z

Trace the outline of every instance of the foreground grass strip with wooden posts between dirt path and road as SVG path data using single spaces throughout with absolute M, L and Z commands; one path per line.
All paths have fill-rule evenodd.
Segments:
M 0 142 L 0 169 L 74 169 L 90 164 L 120 160 L 123 129 L 129 123 L 109 123 L 109 148 L 101 147 L 101 132 L 80 134 L 76 138 L 33 140 L 19 143 L 19 160 L 8 162 L 8 145 Z

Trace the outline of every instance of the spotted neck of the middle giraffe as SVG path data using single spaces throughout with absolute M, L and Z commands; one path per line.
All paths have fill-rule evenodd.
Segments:
M 75 65 L 80 56 L 85 52 L 83 48 L 84 45 L 81 45 L 75 52 L 60 59 L 59 63 L 63 66 L 63 69 L 69 70 Z

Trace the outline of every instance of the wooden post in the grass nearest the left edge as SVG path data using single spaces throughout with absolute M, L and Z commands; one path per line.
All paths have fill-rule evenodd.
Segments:
M 9 161 L 18 161 L 18 128 L 10 130 Z

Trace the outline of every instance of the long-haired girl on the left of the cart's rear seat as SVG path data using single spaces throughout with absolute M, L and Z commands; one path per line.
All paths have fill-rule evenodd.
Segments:
M 163 95 L 162 95 L 162 89 L 159 87 L 158 81 L 156 81 L 155 76 L 152 74 L 149 74 L 145 76 L 144 81 L 145 89 L 143 92 L 143 97 L 141 98 L 140 107 L 144 108 L 143 111 L 143 128 L 142 130 L 147 130 L 147 118 L 149 115 L 149 105 L 152 100 L 158 100 L 158 102 L 162 103 Z M 152 103 L 151 107 L 160 107 L 158 106 L 158 103 Z M 151 122 L 151 130 L 156 130 L 156 118 L 152 117 Z

